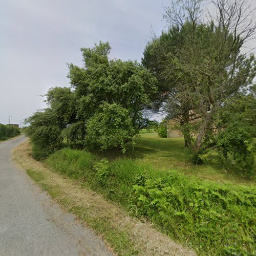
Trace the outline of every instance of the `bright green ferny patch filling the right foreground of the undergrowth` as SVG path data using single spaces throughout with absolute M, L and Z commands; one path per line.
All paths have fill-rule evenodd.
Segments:
M 140 179 L 141 181 L 141 179 Z M 210 255 L 255 253 L 255 191 L 188 180 L 175 172 L 133 186 L 138 216 Z

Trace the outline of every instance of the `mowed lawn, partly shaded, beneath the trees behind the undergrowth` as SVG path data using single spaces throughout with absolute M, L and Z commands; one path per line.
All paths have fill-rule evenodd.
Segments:
M 223 164 L 215 152 L 209 154 L 203 165 L 189 163 L 183 138 L 160 138 L 156 133 L 141 134 L 134 149 L 130 145 L 124 155 L 113 150 L 98 154 L 106 158 L 131 157 L 134 161 L 151 164 L 160 171 L 176 169 L 188 176 L 225 184 L 255 184 L 242 177 L 230 163 Z

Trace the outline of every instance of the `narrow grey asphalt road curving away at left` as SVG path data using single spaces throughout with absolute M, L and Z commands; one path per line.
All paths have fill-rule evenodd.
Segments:
M 11 161 L 25 137 L 0 143 L 0 255 L 111 255 Z

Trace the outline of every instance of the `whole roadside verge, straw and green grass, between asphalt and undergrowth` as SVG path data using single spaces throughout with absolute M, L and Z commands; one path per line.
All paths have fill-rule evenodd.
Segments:
M 76 214 L 85 225 L 95 230 L 119 255 L 195 254 L 174 243 L 151 224 L 131 218 L 120 206 L 105 200 L 91 190 L 89 180 L 74 179 L 78 178 L 72 170 L 75 166 L 70 166 L 69 176 L 53 172 L 44 163 L 32 159 L 28 141 L 20 144 L 13 154 L 14 160 L 42 189 L 48 191 L 63 209 Z M 92 163 L 90 158 L 78 161 L 79 166 L 89 168 Z M 77 160 L 77 155 L 74 155 L 72 162 L 77 163 Z M 78 166 L 76 172 L 79 172 Z

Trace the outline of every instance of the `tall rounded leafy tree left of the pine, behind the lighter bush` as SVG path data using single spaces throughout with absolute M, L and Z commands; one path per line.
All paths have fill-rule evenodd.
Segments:
M 77 95 L 76 116 L 86 125 L 88 123 L 88 127 L 91 128 L 92 123 L 102 116 L 104 103 L 118 104 L 120 108 L 128 111 L 133 127 L 133 133 L 129 132 L 130 139 L 125 137 L 123 140 L 127 142 L 136 136 L 145 125 L 146 120 L 143 113 L 151 108 L 152 98 L 157 91 L 156 80 L 136 61 L 109 59 L 110 49 L 108 42 L 100 42 L 99 46 L 95 45 L 92 49 L 82 48 L 84 67 L 78 68 L 72 64 L 69 65 L 71 85 Z M 108 123 L 109 128 L 110 123 Z M 119 128 L 122 129 L 122 127 Z M 115 130 L 116 127 L 112 127 L 112 129 Z M 92 135 L 92 132 L 90 134 Z M 109 145 L 117 146 L 116 142 L 113 142 L 113 138 L 111 140 Z M 93 141 L 96 143 L 96 140 L 93 139 L 87 139 L 87 141 L 88 143 L 90 141 L 90 144 Z M 106 144 L 108 143 L 102 143 L 101 148 L 105 148 Z M 121 144 L 119 146 L 124 148 L 124 143 Z

